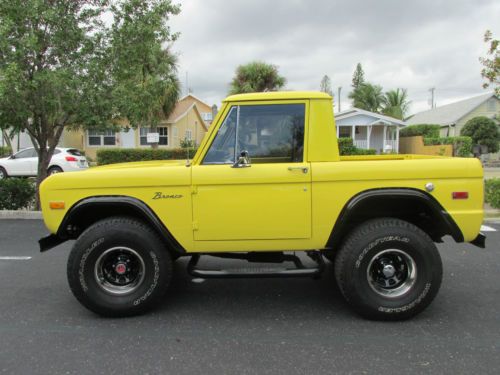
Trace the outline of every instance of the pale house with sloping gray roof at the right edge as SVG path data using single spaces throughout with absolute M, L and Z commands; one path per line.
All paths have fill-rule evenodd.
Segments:
M 451 104 L 419 112 L 406 120 L 408 125 L 441 125 L 442 137 L 460 135 L 460 130 L 471 118 L 486 116 L 494 118 L 500 112 L 500 100 L 490 92 L 460 100 Z

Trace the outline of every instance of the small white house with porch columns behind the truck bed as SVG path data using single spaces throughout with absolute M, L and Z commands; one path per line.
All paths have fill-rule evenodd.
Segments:
M 406 122 L 379 113 L 351 108 L 335 114 L 337 138 L 352 138 L 354 145 L 377 153 L 398 152 L 399 130 Z

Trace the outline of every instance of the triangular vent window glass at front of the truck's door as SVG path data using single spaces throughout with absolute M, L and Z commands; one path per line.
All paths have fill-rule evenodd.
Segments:
M 203 164 L 234 163 L 237 120 L 238 107 L 232 107 L 205 155 Z

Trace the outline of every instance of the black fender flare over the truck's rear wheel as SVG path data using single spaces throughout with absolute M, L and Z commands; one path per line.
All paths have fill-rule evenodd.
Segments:
M 426 209 L 433 214 L 433 217 L 437 218 L 438 222 L 436 225 L 443 233 L 451 235 L 456 242 L 464 242 L 464 237 L 460 228 L 450 214 L 448 214 L 432 195 L 422 190 L 412 188 L 382 188 L 362 191 L 345 204 L 332 228 L 325 248 L 337 248 L 341 244 L 344 235 L 352 229 L 350 226 L 352 224 L 351 219 L 359 214 L 360 211 L 370 207 L 370 204 L 377 201 L 380 202 L 381 200 L 387 202 L 391 200 L 396 201 L 398 199 L 407 199 L 424 205 Z

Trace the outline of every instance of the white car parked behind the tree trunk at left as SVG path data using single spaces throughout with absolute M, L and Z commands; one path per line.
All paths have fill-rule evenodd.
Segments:
M 60 148 L 54 150 L 50 159 L 49 175 L 60 172 L 80 171 L 89 167 L 87 159 L 75 148 Z M 36 176 L 38 170 L 38 155 L 33 147 L 25 148 L 14 155 L 0 159 L 0 180 L 7 177 Z

